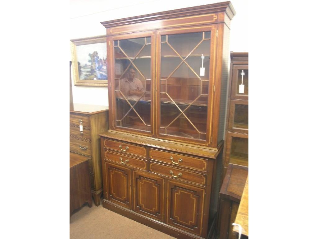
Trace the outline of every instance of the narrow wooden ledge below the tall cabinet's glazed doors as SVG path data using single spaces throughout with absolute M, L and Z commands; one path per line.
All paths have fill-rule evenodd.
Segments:
M 141 144 L 142 146 L 149 146 L 151 148 L 156 149 L 168 149 L 173 150 L 180 153 L 190 154 L 194 156 L 207 157 L 207 158 L 216 158 L 220 150 L 214 150 L 213 148 L 208 148 L 204 146 L 194 146 L 190 144 L 181 144 L 175 141 L 161 140 L 155 139 L 152 137 L 141 136 L 136 134 L 128 134 L 122 132 L 115 132 L 109 130 L 100 136 L 114 139 L 114 140 L 122 140 L 130 143 Z M 222 147 L 221 145 L 220 147 Z

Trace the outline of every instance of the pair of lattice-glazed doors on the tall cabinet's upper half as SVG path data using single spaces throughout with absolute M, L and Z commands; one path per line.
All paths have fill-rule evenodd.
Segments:
M 213 104 L 216 26 L 118 35 L 109 42 L 115 130 L 217 147 L 211 138 L 218 134 L 212 125 L 213 106 L 219 108 Z

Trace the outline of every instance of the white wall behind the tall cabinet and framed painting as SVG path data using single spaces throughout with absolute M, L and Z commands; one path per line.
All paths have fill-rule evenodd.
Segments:
M 70 39 L 105 35 L 106 28 L 100 24 L 103 21 L 218 2 L 221 1 L 70 0 Z M 231 21 L 230 51 L 248 52 L 248 1 L 231 2 L 236 15 Z M 73 83 L 72 91 L 74 103 L 108 105 L 106 87 L 74 86 Z

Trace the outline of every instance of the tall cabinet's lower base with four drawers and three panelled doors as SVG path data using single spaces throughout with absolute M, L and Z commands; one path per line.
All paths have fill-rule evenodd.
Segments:
M 111 130 L 100 143 L 104 207 L 176 238 L 212 236 L 222 150 Z

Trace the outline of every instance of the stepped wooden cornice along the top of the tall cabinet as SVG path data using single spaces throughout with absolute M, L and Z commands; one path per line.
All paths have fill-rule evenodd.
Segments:
M 141 22 L 163 20 L 168 18 L 177 18 L 177 17 L 185 17 L 185 16 L 192 16 L 192 15 L 199 15 L 199 14 L 216 13 L 220 11 L 225 11 L 231 20 L 233 16 L 236 14 L 231 2 L 222 2 L 222 3 L 206 4 L 206 5 L 195 6 L 195 7 L 180 8 L 180 9 L 175 9 L 170 11 L 156 12 L 156 13 L 151 13 L 151 14 L 146 14 L 146 15 L 141 15 L 136 17 L 121 18 L 121 19 L 101 22 L 101 24 L 105 28 L 109 28 L 114 26 L 129 25 L 129 24 L 135 24 L 135 23 L 141 23 Z

